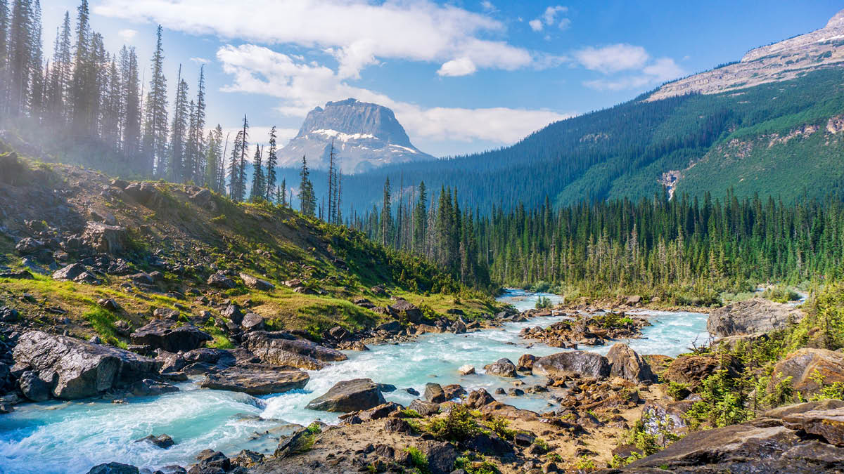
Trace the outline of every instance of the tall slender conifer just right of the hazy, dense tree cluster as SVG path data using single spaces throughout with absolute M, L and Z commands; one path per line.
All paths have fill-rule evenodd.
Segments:
M 164 76 L 164 50 L 159 25 L 149 79 L 149 92 L 144 104 L 143 163 L 145 175 L 164 176 L 167 172 L 167 79 Z

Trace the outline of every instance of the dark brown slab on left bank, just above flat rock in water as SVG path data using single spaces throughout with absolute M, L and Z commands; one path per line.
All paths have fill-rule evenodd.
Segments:
M 325 347 L 317 342 L 296 339 L 283 331 L 252 331 L 246 333 L 243 341 L 252 353 L 264 362 L 289 365 L 299 369 L 317 370 L 326 362 L 346 360 L 346 354 Z

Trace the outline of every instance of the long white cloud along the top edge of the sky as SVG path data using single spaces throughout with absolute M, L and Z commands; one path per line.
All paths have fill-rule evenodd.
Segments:
M 532 66 L 535 57 L 495 40 L 506 33 L 500 21 L 430 0 L 252 0 L 246 10 L 229 0 L 103 0 L 94 8 L 195 35 L 329 51 L 340 62 L 341 78 L 358 78 L 362 68 L 384 59 L 468 58 L 476 68 L 514 70 Z

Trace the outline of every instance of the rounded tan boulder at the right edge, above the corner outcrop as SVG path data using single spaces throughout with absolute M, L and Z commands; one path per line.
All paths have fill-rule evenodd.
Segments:
M 827 349 L 798 349 L 776 363 L 769 388 L 772 390 L 787 377 L 791 377 L 792 387 L 803 396 L 819 391 L 821 384 L 844 383 L 844 353 Z

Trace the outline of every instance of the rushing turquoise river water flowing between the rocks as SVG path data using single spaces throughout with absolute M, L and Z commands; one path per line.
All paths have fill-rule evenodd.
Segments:
M 508 289 L 500 301 L 518 310 L 533 308 L 539 297 L 554 303 L 560 297 Z M 687 312 L 641 311 L 652 326 L 644 337 L 628 342 L 636 352 L 676 356 L 693 344 L 706 342 L 706 315 Z M 426 334 L 414 342 L 383 344 L 365 352 L 345 352 L 349 360 L 326 369 L 309 371 L 305 389 L 274 396 L 253 397 L 229 391 L 198 388 L 201 378 L 179 385 L 181 391 L 156 397 L 130 397 L 126 403 L 111 401 L 49 401 L 19 405 L 15 412 L 0 416 L 0 473 L 85 473 L 91 466 L 118 461 L 134 466 L 158 468 L 170 464 L 190 466 L 200 450 L 213 449 L 235 455 L 242 449 L 272 452 L 277 439 L 295 426 L 316 419 L 336 423 L 333 413 L 306 410 L 308 401 L 322 395 L 339 380 L 361 377 L 392 384 L 396 391 L 385 393 L 387 401 L 407 405 L 424 392 L 425 384 L 461 384 L 467 390 L 484 387 L 508 388 L 512 380 L 484 374 L 484 365 L 499 358 L 513 362 L 524 353 L 536 356 L 564 349 L 523 340 L 524 327 L 549 326 L 563 316 L 539 317 L 507 323 L 500 328 L 469 334 Z M 610 345 L 583 347 L 606 354 Z M 461 376 L 457 368 L 470 364 L 478 374 Z M 523 377 L 526 385 L 542 378 Z M 520 408 L 552 409 L 548 396 L 495 396 Z M 169 434 L 176 444 L 161 450 L 133 440 L 148 434 Z

